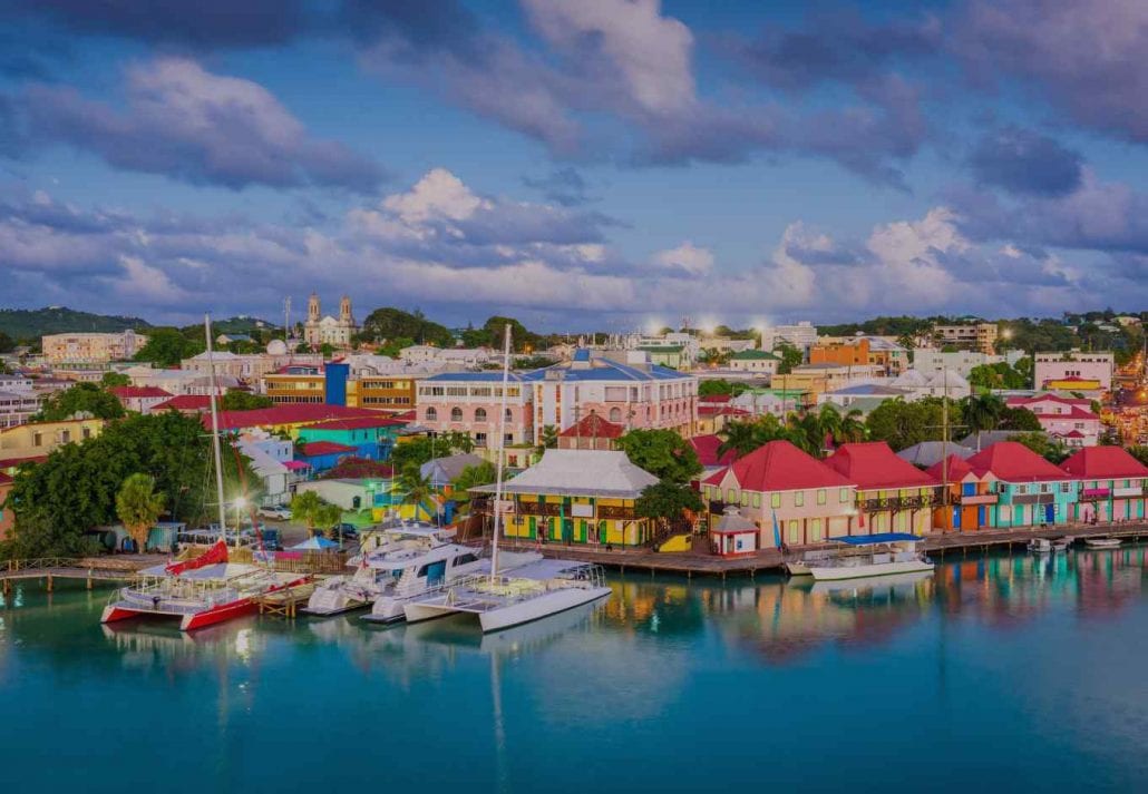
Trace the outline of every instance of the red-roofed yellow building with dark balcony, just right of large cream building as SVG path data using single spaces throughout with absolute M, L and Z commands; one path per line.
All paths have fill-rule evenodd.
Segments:
M 859 529 L 914 535 L 932 531 L 940 482 L 898 458 L 885 442 L 841 444 L 825 465 L 856 485 Z

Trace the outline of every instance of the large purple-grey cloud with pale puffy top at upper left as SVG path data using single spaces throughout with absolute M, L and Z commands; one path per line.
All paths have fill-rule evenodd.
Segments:
M 269 91 L 163 57 L 131 67 L 127 111 L 73 88 L 37 84 L 17 101 L 28 139 L 91 151 L 110 165 L 196 185 L 373 190 L 383 172 L 341 143 L 316 139 Z

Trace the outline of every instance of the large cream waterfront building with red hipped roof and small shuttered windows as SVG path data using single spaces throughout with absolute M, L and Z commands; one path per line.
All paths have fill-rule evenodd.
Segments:
M 760 546 L 823 543 L 852 535 L 856 485 L 788 441 L 773 441 L 706 477 L 711 523 L 727 505 L 761 528 Z

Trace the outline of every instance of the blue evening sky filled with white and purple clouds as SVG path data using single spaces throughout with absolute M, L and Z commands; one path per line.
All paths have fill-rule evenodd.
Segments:
M 0 306 L 1148 306 L 1142 0 L 0 0 Z

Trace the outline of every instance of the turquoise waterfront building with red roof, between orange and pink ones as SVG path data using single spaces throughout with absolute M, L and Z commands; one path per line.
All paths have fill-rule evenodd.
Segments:
M 1024 444 L 1002 441 L 967 460 L 996 478 L 998 501 L 990 507 L 993 527 L 1033 527 L 1070 521 L 1076 514 L 1078 481 Z

